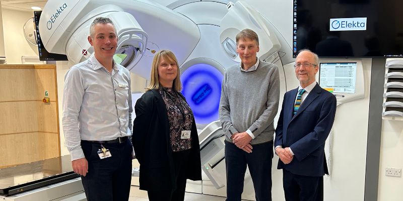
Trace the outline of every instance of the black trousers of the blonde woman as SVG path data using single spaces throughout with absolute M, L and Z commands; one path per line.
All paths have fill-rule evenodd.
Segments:
M 147 191 L 150 201 L 183 201 L 185 199 L 186 170 L 190 149 L 172 153 L 176 187 L 164 191 Z M 201 167 L 200 167 L 201 168 Z

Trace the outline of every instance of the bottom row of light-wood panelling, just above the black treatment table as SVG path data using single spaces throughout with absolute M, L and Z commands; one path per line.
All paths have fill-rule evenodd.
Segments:
M 54 133 L 0 135 L 0 167 L 57 157 L 57 139 Z

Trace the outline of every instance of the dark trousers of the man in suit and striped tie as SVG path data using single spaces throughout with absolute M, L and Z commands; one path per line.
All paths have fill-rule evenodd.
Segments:
M 323 176 L 303 176 L 283 169 L 286 201 L 323 201 Z

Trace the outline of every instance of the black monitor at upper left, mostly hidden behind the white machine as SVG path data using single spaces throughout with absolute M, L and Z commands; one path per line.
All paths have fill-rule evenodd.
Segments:
M 49 53 L 42 43 L 41 36 L 39 35 L 39 19 L 41 17 L 42 11 L 34 11 L 35 19 L 35 29 L 36 29 L 36 39 L 38 43 L 38 52 L 40 61 L 67 61 L 67 56 L 64 54 L 54 54 Z

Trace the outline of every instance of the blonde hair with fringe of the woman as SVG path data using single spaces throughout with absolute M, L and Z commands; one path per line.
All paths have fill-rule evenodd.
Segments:
M 162 88 L 158 76 L 158 66 L 160 65 L 161 57 L 166 61 L 174 62 L 176 64 L 178 72 L 173 80 L 172 89 L 175 91 L 182 90 L 182 83 L 180 82 L 180 70 L 175 54 L 170 50 L 160 50 L 154 55 L 153 63 L 151 65 L 150 85 L 146 88 L 146 91 Z

